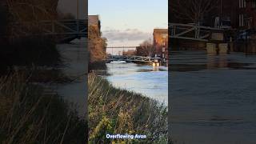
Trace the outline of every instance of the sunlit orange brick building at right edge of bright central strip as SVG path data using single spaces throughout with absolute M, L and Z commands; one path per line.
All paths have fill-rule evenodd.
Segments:
M 154 29 L 154 48 L 160 58 L 168 59 L 168 29 Z

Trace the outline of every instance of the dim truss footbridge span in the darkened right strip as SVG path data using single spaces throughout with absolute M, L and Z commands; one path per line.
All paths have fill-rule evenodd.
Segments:
M 222 30 L 210 26 L 169 23 L 170 38 L 208 42 L 211 31 Z

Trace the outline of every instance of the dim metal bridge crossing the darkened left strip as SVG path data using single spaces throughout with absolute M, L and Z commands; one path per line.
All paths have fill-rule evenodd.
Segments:
M 50 35 L 58 38 L 59 42 L 70 42 L 75 38 L 87 38 L 86 19 L 46 20 L 38 22 L 13 23 L 14 26 L 22 26 L 23 36 L 37 35 L 29 33 L 26 26 L 38 26 L 39 34 Z

